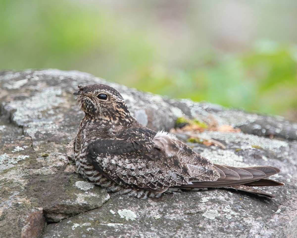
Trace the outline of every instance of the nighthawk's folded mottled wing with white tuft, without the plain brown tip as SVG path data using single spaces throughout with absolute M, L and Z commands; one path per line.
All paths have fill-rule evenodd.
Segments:
M 121 137 L 126 138 L 95 140 L 87 153 L 88 162 L 116 184 L 162 190 L 188 184 L 193 176 L 199 181 L 219 178 L 210 161 L 166 132 L 145 137 L 131 130 Z

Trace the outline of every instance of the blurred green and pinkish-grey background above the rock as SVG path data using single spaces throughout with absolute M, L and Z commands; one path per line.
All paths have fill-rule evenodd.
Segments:
M 0 71 L 57 68 L 297 120 L 297 1 L 0 0 Z

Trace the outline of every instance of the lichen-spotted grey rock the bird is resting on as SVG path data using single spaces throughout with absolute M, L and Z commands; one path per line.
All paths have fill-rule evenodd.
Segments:
M 179 117 L 241 132 L 204 130 L 225 149 L 187 142 L 226 165 L 271 165 L 276 198 L 208 190 L 138 199 L 108 194 L 76 173 L 73 139 L 83 112 L 77 85 L 115 87 L 137 120 L 170 130 Z M 162 98 L 78 71 L 0 75 L 0 237 L 297 237 L 297 124 L 208 103 Z M 273 138 L 272 138 L 273 137 Z M 271 139 L 272 138 L 272 139 Z

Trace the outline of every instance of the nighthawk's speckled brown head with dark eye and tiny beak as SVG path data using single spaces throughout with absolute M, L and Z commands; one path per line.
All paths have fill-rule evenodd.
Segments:
M 80 85 L 77 95 L 78 105 L 86 116 L 94 120 L 111 123 L 129 122 L 132 118 L 121 94 L 105 84 Z

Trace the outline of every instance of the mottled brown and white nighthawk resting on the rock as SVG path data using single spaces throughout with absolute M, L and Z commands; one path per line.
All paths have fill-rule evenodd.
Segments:
M 147 198 L 163 192 L 228 187 L 273 197 L 253 187 L 283 185 L 266 179 L 278 168 L 213 164 L 173 134 L 141 125 L 112 87 L 78 86 L 73 94 L 85 113 L 74 140 L 78 172 L 108 191 Z

